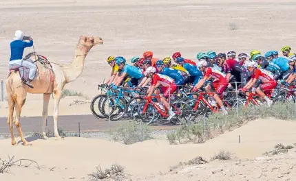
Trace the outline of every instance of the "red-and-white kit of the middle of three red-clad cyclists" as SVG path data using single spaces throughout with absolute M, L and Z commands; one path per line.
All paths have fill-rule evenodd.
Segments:
M 215 78 L 213 82 L 213 87 L 216 90 L 216 93 L 221 94 L 223 93 L 224 89 L 228 85 L 226 80 L 226 75 L 217 69 L 213 69 L 212 67 L 207 67 L 204 73 L 204 77 L 212 76 Z

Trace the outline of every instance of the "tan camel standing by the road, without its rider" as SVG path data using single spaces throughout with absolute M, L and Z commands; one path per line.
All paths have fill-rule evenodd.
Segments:
M 23 84 L 19 71 L 10 71 L 10 75 L 6 80 L 6 90 L 8 97 L 8 125 L 10 128 L 11 134 L 11 144 L 16 145 L 13 134 L 13 123 L 16 126 L 19 136 L 23 145 L 32 145 L 32 143 L 25 140 L 23 137 L 23 132 L 21 130 L 21 108 L 25 104 L 25 99 L 27 93 L 32 94 L 43 94 L 43 112 L 42 112 L 42 133 L 41 138 L 47 139 L 45 134 L 45 123 L 48 115 L 48 104 L 50 101 L 50 95 L 54 95 L 54 137 L 56 140 L 60 140 L 61 136 L 58 132 L 58 115 L 59 115 L 59 102 L 61 99 L 61 93 L 65 84 L 76 80 L 79 75 L 81 75 L 84 67 L 85 57 L 89 50 L 96 45 L 103 45 L 103 40 L 101 37 L 87 37 L 80 36 L 78 43 L 76 45 L 76 51 L 74 54 L 74 60 L 68 65 L 60 65 L 56 62 L 50 62 L 52 69 L 46 69 L 43 65 L 36 61 L 37 71 L 32 80 L 31 84 L 34 88 L 28 87 L 26 84 Z M 32 60 L 36 60 L 36 53 L 32 53 L 30 56 Z M 13 119 L 13 112 L 16 115 Z

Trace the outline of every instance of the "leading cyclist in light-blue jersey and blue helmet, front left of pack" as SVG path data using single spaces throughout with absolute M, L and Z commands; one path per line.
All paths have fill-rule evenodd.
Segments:
M 118 56 L 115 58 L 116 64 L 118 65 L 118 68 L 121 70 L 120 76 L 118 77 L 118 80 L 114 84 L 114 88 L 117 86 L 120 86 L 120 84 L 123 82 L 125 77 L 131 77 L 131 85 L 137 86 L 142 81 L 144 75 L 142 74 L 141 69 L 138 69 L 137 67 L 134 67 L 132 65 L 126 64 L 125 58 Z

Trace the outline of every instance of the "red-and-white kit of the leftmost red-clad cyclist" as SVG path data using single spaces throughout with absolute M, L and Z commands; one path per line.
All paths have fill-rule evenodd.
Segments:
M 175 81 L 167 75 L 155 73 L 151 85 L 155 86 L 157 83 L 162 85 L 160 88 L 162 92 L 164 92 L 164 97 L 169 97 L 169 95 L 174 93 L 177 89 Z

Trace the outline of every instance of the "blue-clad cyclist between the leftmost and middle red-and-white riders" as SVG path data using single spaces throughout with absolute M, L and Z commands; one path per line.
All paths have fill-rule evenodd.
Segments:
M 195 84 L 197 84 L 198 81 L 202 78 L 202 73 L 193 64 L 185 63 L 185 60 L 182 57 L 176 58 L 176 62 L 189 72 L 189 83 L 193 83 L 193 86 L 195 86 Z

